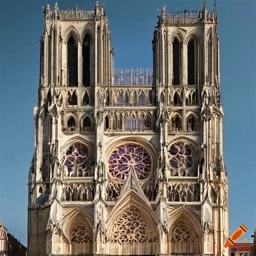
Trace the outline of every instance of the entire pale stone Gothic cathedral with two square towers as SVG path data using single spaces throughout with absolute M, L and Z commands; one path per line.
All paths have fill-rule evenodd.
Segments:
M 217 24 L 164 6 L 153 69 L 117 69 L 98 2 L 45 6 L 29 256 L 228 255 Z

